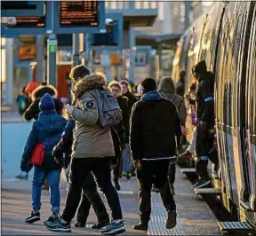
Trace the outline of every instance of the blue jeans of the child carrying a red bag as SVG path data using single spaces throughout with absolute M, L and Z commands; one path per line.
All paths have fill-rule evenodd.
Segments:
M 41 192 L 46 178 L 50 186 L 51 210 L 60 212 L 60 171 L 61 169 L 45 170 L 35 167 L 32 182 L 32 207 L 34 210 L 41 208 Z

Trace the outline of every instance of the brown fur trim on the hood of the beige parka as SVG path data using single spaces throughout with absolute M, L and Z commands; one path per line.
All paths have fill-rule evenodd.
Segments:
M 76 82 L 74 89 L 71 90 L 73 101 L 76 100 L 76 98 L 80 98 L 86 90 L 93 90 L 105 85 L 107 85 L 106 75 L 101 73 L 86 75 Z

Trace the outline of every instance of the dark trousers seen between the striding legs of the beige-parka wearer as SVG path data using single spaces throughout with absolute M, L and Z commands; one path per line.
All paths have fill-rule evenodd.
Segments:
M 107 209 L 105 208 L 105 205 L 100 198 L 100 194 L 97 191 L 97 185 L 94 177 L 92 176 L 92 172 L 84 181 L 83 198 L 76 216 L 77 222 L 86 223 L 91 206 L 97 216 L 98 222 L 109 220 Z

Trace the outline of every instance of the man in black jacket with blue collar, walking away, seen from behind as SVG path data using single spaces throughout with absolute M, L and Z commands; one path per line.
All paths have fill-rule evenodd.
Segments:
M 140 223 L 134 230 L 148 230 L 152 184 L 159 188 L 168 212 L 166 228 L 176 225 L 176 205 L 168 180 L 170 161 L 176 160 L 181 127 L 179 113 L 171 100 L 156 92 L 156 81 L 142 83 L 143 97 L 132 108 L 130 146 L 139 183 Z

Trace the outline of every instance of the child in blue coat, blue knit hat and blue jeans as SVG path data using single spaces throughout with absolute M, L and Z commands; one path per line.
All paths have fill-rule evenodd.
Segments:
M 28 169 L 29 160 L 32 156 L 36 144 L 43 144 L 45 156 L 42 166 L 35 166 L 35 172 L 32 182 L 32 212 L 26 218 L 26 223 L 34 223 L 40 220 L 41 191 L 44 179 L 46 178 L 50 185 L 50 198 L 52 204 L 52 216 L 48 221 L 59 219 L 60 212 L 60 171 L 61 163 L 54 161 L 52 149 L 58 143 L 61 133 L 65 129 L 67 121 L 56 113 L 54 102 L 51 96 L 46 93 L 41 98 L 39 107 L 41 113 L 38 120 L 33 123 L 32 130 L 29 133 L 22 160 L 20 163 L 21 171 Z

